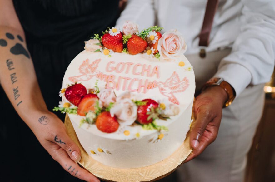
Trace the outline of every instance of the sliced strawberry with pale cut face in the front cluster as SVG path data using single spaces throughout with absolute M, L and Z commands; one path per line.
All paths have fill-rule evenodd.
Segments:
M 78 105 L 78 115 L 85 116 L 89 111 L 95 111 L 96 101 L 98 96 L 96 94 L 87 94 L 82 98 Z

